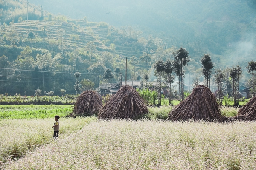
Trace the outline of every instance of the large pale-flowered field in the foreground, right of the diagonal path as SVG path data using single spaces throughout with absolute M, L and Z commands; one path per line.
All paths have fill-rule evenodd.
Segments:
M 255 122 L 150 120 L 92 121 L 78 133 L 44 144 L 3 167 L 10 170 L 255 168 Z

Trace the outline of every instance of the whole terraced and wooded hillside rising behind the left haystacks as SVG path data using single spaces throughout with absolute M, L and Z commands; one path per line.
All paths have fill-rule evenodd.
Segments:
M 125 73 L 126 57 L 128 80 L 134 71 L 135 80 L 146 70 L 140 56 L 159 47 L 154 40 L 140 37 L 131 28 L 116 29 L 106 23 L 84 20 L 12 23 L 0 30 L 0 94 L 33 95 L 37 88 L 59 95 L 60 89 L 66 89 L 72 94 L 77 71 L 82 73 L 79 82 L 93 82 L 97 88 L 106 81 L 103 79 L 105 68 L 111 68 L 113 73 L 120 68 Z M 137 60 L 134 63 L 132 56 Z M 103 69 L 98 69 L 100 67 Z M 111 82 L 119 82 L 119 75 L 115 74 Z

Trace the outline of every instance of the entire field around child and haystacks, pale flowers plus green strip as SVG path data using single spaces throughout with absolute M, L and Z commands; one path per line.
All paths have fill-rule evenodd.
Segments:
M 0 115 L 11 115 L 0 119 L 0 169 L 256 168 L 256 122 L 163 121 L 171 109 L 151 107 L 138 121 L 101 121 L 64 118 L 70 105 L 0 105 Z M 221 110 L 235 116 L 238 109 Z M 54 141 L 56 113 L 63 115 Z

